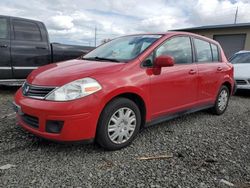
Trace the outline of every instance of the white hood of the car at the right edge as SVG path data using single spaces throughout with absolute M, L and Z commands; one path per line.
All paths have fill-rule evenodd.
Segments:
M 233 64 L 235 78 L 250 78 L 250 63 Z

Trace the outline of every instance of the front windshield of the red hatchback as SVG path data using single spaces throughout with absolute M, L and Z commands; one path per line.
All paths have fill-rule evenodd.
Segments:
M 83 59 L 113 62 L 128 61 L 136 58 L 161 37 L 162 35 L 133 35 L 120 37 L 101 45 L 83 56 Z

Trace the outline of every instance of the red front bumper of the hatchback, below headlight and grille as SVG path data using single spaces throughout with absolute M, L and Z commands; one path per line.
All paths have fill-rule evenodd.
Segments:
M 55 141 L 80 141 L 95 137 L 100 113 L 95 95 L 68 102 L 55 102 L 24 97 L 19 89 L 14 102 L 21 108 L 17 113 L 18 124 L 39 137 Z M 25 121 L 24 117 L 33 119 Z M 48 121 L 63 122 L 60 132 L 48 132 Z

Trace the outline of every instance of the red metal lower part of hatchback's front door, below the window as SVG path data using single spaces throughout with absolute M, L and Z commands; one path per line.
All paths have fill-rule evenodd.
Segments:
M 189 74 L 191 70 L 194 70 L 195 74 Z M 150 79 L 152 118 L 194 106 L 198 92 L 197 73 L 197 65 L 189 64 L 162 68 L 159 75 L 152 75 Z

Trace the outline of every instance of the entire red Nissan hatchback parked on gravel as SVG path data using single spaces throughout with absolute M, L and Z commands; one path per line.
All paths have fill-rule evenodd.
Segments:
M 139 34 L 34 70 L 13 104 L 18 123 L 35 135 L 115 150 L 144 126 L 207 108 L 222 114 L 233 87 L 233 66 L 217 42 Z

